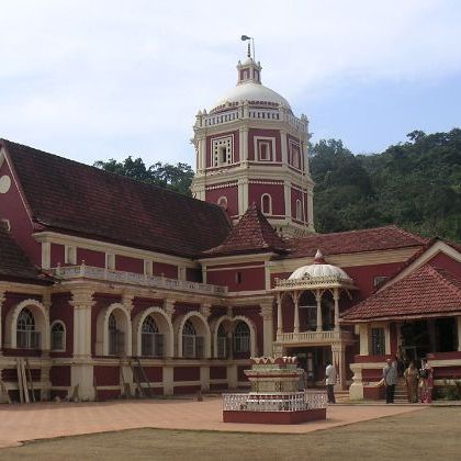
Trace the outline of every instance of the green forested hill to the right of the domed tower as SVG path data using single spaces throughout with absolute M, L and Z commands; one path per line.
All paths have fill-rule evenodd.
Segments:
M 353 155 L 340 140 L 311 148 L 314 218 L 328 233 L 396 224 L 461 240 L 461 130 L 426 135 L 381 154 Z

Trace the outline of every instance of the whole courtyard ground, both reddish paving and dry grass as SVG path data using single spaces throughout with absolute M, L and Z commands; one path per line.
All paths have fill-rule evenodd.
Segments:
M 461 407 L 329 406 L 326 421 L 222 423 L 220 398 L 2 405 L 0 460 L 459 459 Z M 70 436 L 70 437 L 69 437 Z

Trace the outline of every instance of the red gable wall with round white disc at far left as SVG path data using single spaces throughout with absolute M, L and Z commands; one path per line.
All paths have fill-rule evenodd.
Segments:
M 32 237 L 32 222 L 7 161 L 0 168 L 0 177 L 3 175 L 11 178 L 11 188 L 7 193 L 0 194 L 0 217 L 10 221 L 13 238 L 36 266 L 42 266 L 42 245 Z

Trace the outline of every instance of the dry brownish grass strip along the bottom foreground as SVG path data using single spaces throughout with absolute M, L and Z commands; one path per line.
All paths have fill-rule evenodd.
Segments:
M 0 460 L 460 460 L 461 407 L 427 408 L 304 435 L 137 429 L 0 450 Z

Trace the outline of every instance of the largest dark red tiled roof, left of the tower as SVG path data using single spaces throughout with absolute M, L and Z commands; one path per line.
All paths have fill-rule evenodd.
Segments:
M 33 220 L 46 228 L 178 256 L 221 244 L 221 206 L 0 139 Z

